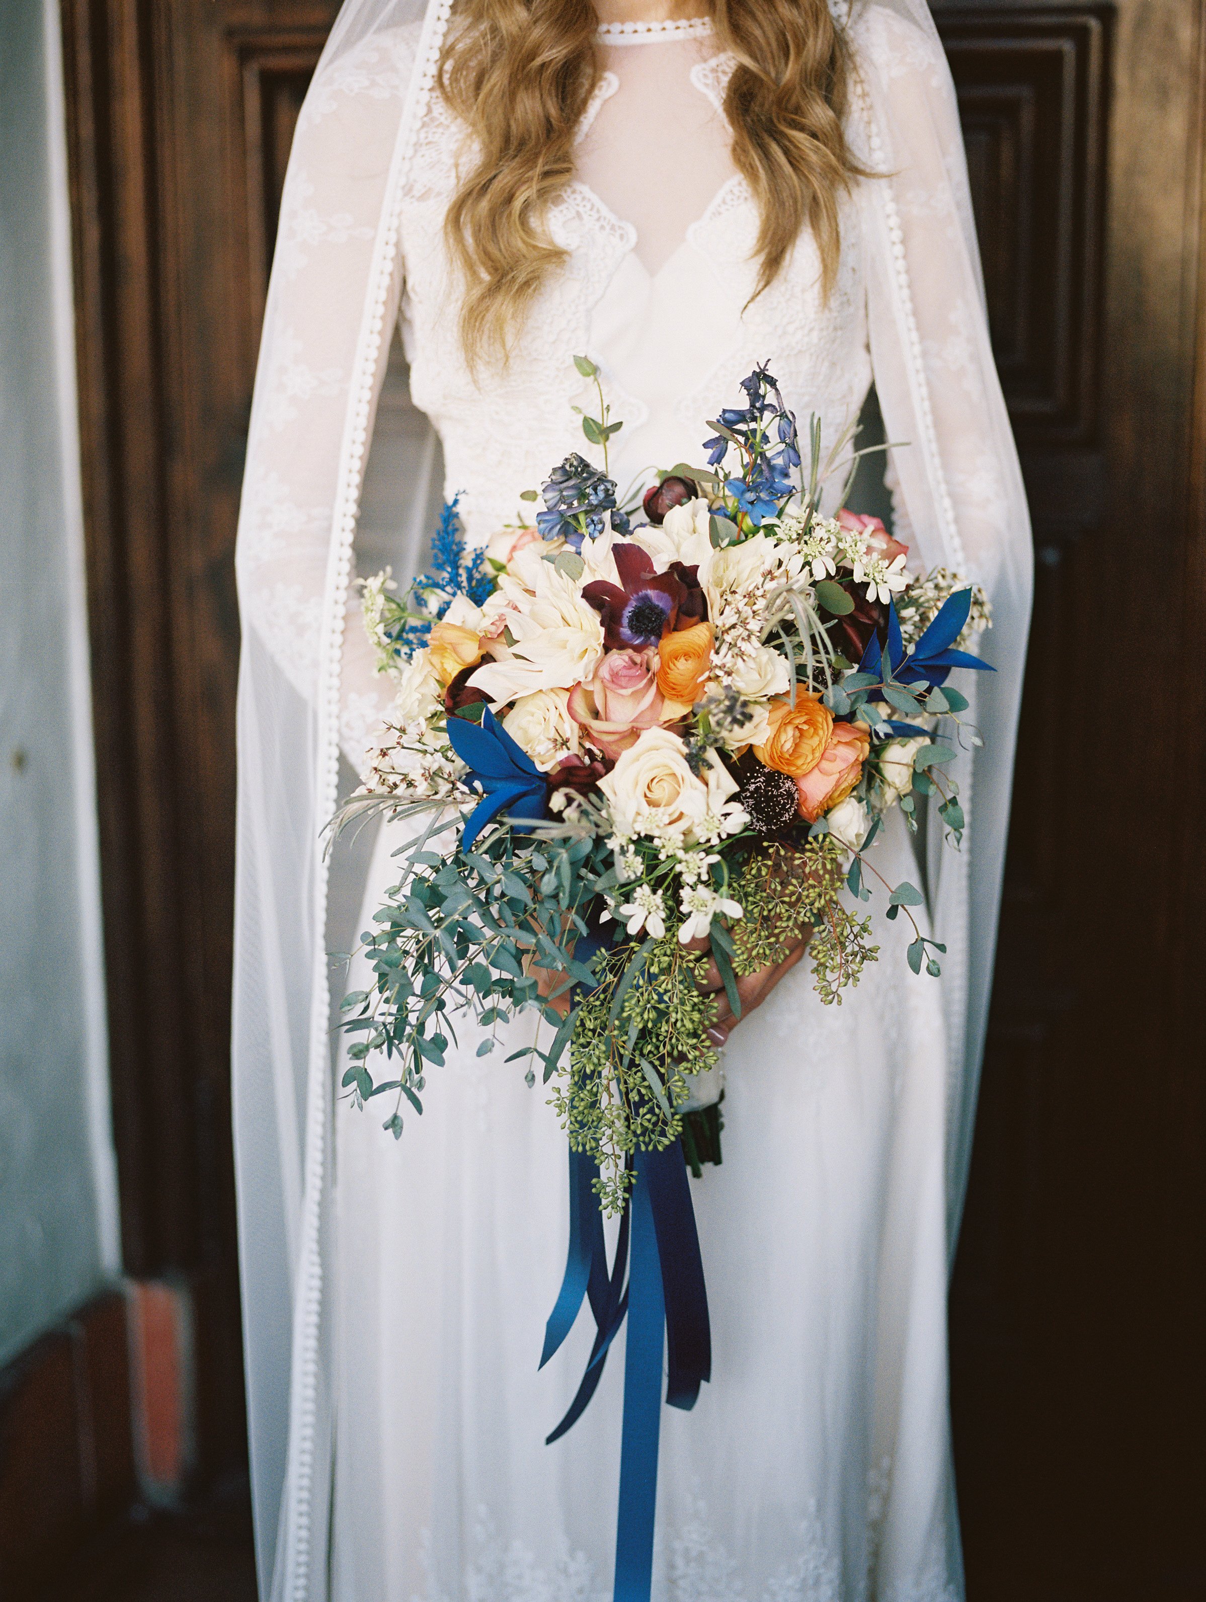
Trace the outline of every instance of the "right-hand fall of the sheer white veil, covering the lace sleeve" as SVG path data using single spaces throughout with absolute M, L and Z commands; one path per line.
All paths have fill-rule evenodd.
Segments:
M 918 566 L 977 578 L 993 606 L 993 673 L 959 682 L 967 719 L 958 775 L 959 852 L 929 820 L 929 904 L 948 944 L 948 1200 L 955 1242 L 971 1155 L 996 950 L 1009 801 L 1030 625 L 1031 546 L 1022 473 L 993 364 L 967 168 L 950 69 L 923 0 L 860 0 L 852 139 L 879 175 L 860 184 L 868 328 L 890 441 L 894 501 Z M 907 442 L 907 444 L 903 444 Z M 966 679 L 974 679 L 967 684 Z

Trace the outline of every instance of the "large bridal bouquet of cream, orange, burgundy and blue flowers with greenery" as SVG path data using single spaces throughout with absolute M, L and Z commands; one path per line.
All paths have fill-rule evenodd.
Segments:
M 364 936 L 373 988 L 343 1003 L 359 1036 L 344 1086 L 359 1104 L 392 1093 L 399 1136 L 458 1027 L 485 1032 L 482 1056 L 530 1011 L 535 1038 L 508 1061 L 553 1081 L 607 1211 L 637 1150 L 681 1141 L 697 1173 L 719 1158 L 716 1107 L 693 1094 L 718 1061 L 701 942 L 738 1017 L 737 979 L 804 936 L 820 996 L 841 1001 L 878 955 L 858 908 L 879 881 L 887 916 L 913 923 L 910 966 L 937 974 L 921 892 L 868 849 L 890 807 L 916 828 L 923 798 L 951 843 L 964 827 L 948 739 L 977 737 L 947 681 L 985 666 L 967 646 L 987 599 L 913 574 L 878 519 L 823 516 L 850 436 L 822 463 L 814 420 L 806 461 L 766 367 L 742 388 L 706 466 L 673 466 L 631 506 L 599 391 L 583 429 L 602 471 L 569 457 L 525 497 L 543 500 L 535 522 L 484 551 L 453 501 L 431 574 L 405 594 L 388 572 L 364 583 L 397 695 L 340 823 L 416 822 Z M 394 1072 L 375 1080 L 383 1057 Z

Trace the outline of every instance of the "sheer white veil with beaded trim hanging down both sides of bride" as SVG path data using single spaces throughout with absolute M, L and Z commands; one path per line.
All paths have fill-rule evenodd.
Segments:
M 961 758 L 963 854 L 931 849 L 950 947 L 953 1242 L 991 979 L 1030 530 L 983 308 L 950 75 L 924 0 L 831 0 L 857 61 L 850 138 L 889 176 L 862 186 L 876 388 L 897 517 L 927 564 L 974 574 L 995 626 Z M 852 14 L 847 16 L 847 11 Z M 380 710 L 349 618 L 357 553 L 413 570 L 437 447 L 388 372 L 402 293 L 400 199 L 423 136 L 450 0 L 346 0 L 298 122 L 248 442 L 237 575 L 239 836 L 234 1120 L 248 1424 L 261 1594 L 327 1591 L 332 1479 L 327 1251 L 332 993 L 359 905 L 356 852 L 324 825 Z M 774 352 L 767 352 L 774 359 Z M 381 405 L 381 396 L 389 405 Z M 370 453 L 372 447 L 372 453 Z M 362 508 L 370 508 L 362 513 Z M 372 524 L 372 527 L 368 527 Z M 386 535 L 386 549 L 380 537 Z M 367 559 L 367 557 L 365 557 Z

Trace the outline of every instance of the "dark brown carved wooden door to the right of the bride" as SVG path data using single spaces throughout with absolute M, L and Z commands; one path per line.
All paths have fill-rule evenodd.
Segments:
M 934 11 L 1036 545 L 951 1298 L 969 1596 L 1203 1597 L 1203 8 Z

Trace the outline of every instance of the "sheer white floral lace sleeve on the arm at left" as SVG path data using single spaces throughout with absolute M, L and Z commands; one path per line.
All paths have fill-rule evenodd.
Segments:
M 303 107 L 280 208 L 269 311 L 248 437 L 235 567 L 245 631 L 287 681 L 317 698 L 319 638 L 351 373 L 346 317 L 364 282 L 384 173 L 413 59 L 413 30 L 336 61 Z M 400 285 L 394 288 L 396 312 Z M 359 767 L 388 705 L 359 604 L 344 633 L 341 742 Z

